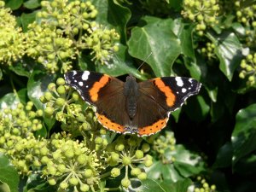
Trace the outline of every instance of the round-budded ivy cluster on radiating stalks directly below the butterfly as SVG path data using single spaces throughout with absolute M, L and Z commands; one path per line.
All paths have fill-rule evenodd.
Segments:
M 146 154 L 150 147 L 148 143 L 142 142 L 143 139 L 140 137 L 131 136 L 125 139 L 125 136 L 120 136 L 107 146 L 107 162 L 109 166 L 113 166 L 110 175 L 111 177 L 119 177 L 124 168 L 125 177 L 121 180 L 121 185 L 124 188 L 131 185 L 131 177 L 137 177 L 139 180 L 147 178 L 147 173 L 137 165 L 149 167 L 153 164 L 153 157 Z M 108 175 L 109 173 L 104 174 L 105 177 Z

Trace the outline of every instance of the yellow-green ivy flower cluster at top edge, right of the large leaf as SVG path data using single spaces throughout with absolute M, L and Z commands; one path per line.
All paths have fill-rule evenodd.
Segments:
M 214 26 L 218 23 L 217 0 L 184 0 L 183 7 L 183 17 L 197 23 L 195 29 L 200 36 L 204 34 L 207 26 Z

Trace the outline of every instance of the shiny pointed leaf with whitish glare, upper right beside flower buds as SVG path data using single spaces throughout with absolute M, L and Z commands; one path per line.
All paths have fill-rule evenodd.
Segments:
M 231 81 L 242 58 L 239 39 L 234 32 L 223 32 L 220 35 L 208 32 L 207 37 L 215 45 L 214 53 L 220 61 L 219 69 Z

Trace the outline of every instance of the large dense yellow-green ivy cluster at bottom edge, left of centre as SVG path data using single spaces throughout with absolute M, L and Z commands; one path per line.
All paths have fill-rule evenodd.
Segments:
M 48 148 L 42 148 L 42 174 L 50 185 L 59 189 L 89 191 L 100 182 L 99 173 L 105 166 L 95 151 L 86 147 L 86 143 L 74 141 L 70 135 L 54 134 Z

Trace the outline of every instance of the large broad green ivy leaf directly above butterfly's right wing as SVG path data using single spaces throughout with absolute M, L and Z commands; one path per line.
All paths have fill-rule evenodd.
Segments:
M 170 76 L 172 64 L 180 54 L 195 57 L 192 28 L 181 20 L 144 17 L 141 23 L 143 26 L 136 26 L 131 30 L 129 53 L 142 61 L 152 53 L 146 62 L 156 76 Z

